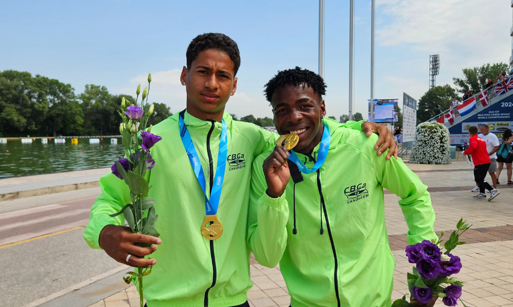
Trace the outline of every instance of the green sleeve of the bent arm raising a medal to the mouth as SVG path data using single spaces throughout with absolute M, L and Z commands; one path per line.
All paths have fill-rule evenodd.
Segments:
M 276 199 L 267 195 L 263 161 L 259 157 L 252 165 L 247 242 L 259 264 L 274 268 L 287 245 L 289 208 L 285 193 Z

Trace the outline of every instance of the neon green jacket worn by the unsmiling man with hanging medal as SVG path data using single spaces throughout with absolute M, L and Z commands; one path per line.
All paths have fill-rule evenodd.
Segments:
M 254 124 L 232 121 L 225 112 L 228 128 L 228 158 L 218 218 L 223 224 L 220 238 L 210 241 L 201 234 L 205 218 L 205 195 L 194 176 L 180 139 L 179 114 L 153 126 L 151 132 L 162 141 L 151 148 L 155 167 L 146 173 L 152 186 L 148 196 L 156 200 L 159 214 L 155 228 L 162 244 L 151 257 L 157 260 L 144 277 L 144 297 L 148 307 L 227 307 L 246 301 L 252 287 L 249 278 L 250 251 L 246 244 L 251 164 L 264 150 L 274 147 L 277 134 Z M 217 163 L 221 123 L 184 116 L 207 178 Z M 352 122 L 361 129 L 361 122 Z M 200 148 L 198 148 L 198 144 Z M 208 144 L 208 148 L 207 148 Z M 209 171 L 208 153 L 213 157 Z M 123 225 L 123 215 L 110 217 L 130 202 L 127 185 L 109 173 L 100 179 L 102 194 L 91 208 L 84 238 L 92 248 L 100 248 L 98 238 L 107 225 Z M 270 208 L 268 210 L 271 210 Z M 287 211 L 282 214 L 288 215 Z M 280 216 L 268 214 L 270 225 Z M 258 240 L 258 239 L 257 239 Z

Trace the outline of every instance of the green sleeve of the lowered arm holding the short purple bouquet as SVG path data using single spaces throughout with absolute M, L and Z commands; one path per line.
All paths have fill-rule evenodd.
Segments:
M 406 234 L 408 244 L 438 238 L 433 229 L 435 210 L 431 205 L 427 186 L 403 163 L 401 158 L 386 161 L 382 157 L 385 155 L 378 158 L 383 166 L 381 185 L 401 198 L 399 206 L 409 229 Z

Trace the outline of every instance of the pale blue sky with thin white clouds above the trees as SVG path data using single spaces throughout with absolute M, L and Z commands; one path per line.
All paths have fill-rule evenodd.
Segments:
M 272 117 L 263 85 L 279 70 L 318 71 L 319 2 L 0 0 L 0 71 L 27 71 L 133 95 L 152 74 L 150 101 L 186 106 L 179 76 L 192 38 L 221 32 L 241 52 L 238 89 L 226 111 Z M 463 68 L 509 61 L 509 0 L 376 0 L 376 99 L 419 99 L 429 89 L 429 55 L 440 54 L 437 85 Z M 354 112 L 370 99 L 371 0 L 354 5 Z M 348 114 L 349 1 L 325 0 L 327 116 Z

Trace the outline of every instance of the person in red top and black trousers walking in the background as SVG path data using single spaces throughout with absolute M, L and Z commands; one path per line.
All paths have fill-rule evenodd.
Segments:
M 472 156 L 472 161 L 474 162 L 474 179 L 479 185 L 480 192 L 478 195 L 474 196 L 474 198 L 486 199 L 484 190 L 487 189 L 490 191 L 490 198 L 488 198 L 488 201 L 491 201 L 495 196 L 499 195 L 500 192 L 499 190 L 492 188 L 490 184 L 484 180 L 490 166 L 490 157 L 486 150 L 486 142 L 483 139 L 478 138 L 478 127 L 476 126 L 470 126 L 468 128 L 468 135 L 470 136 L 468 149 L 463 151 L 463 155 Z

